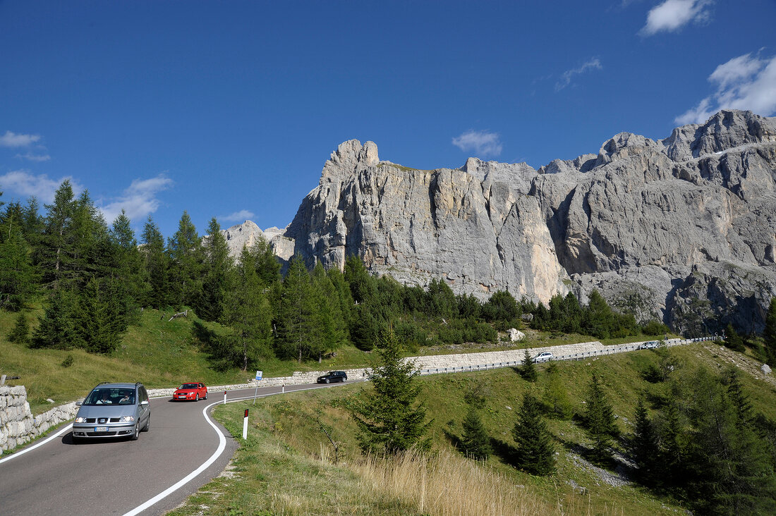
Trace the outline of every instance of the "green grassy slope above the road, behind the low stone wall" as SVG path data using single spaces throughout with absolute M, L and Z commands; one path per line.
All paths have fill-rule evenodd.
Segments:
M 36 327 L 38 317 L 42 313 L 40 307 L 26 312 L 30 327 Z M 176 317 L 169 320 L 171 315 L 171 312 L 144 310 L 138 324 L 130 326 L 123 336 L 116 352 L 110 355 L 94 355 L 78 349 L 31 349 L 12 344 L 7 335 L 16 323 L 17 314 L 0 310 L 0 374 L 19 376 L 19 379 L 9 379 L 8 383 L 26 386 L 33 414 L 39 414 L 52 406 L 47 399 L 54 400 L 57 404 L 66 403 L 85 396 L 88 390 L 99 382 L 142 382 L 150 388 L 161 388 L 192 380 L 209 385 L 244 383 L 246 379 L 254 376 L 253 371 L 214 370 L 207 353 L 192 340 L 192 322 L 196 316 L 189 312 L 189 318 Z M 218 329 L 217 324 L 209 326 Z M 593 340 L 582 335 L 551 336 L 536 331 L 527 332 L 527 340 L 519 343 L 518 347 Z M 516 346 L 511 343 L 500 342 L 487 346 L 422 348 L 421 353 L 431 355 L 514 347 Z M 347 369 L 369 365 L 370 356 L 368 352 L 345 346 L 320 364 L 315 361 L 299 364 L 272 359 L 263 363 L 261 368 L 265 377 L 289 376 L 294 371 Z M 68 365 L 68 362 L 71 363 Z

